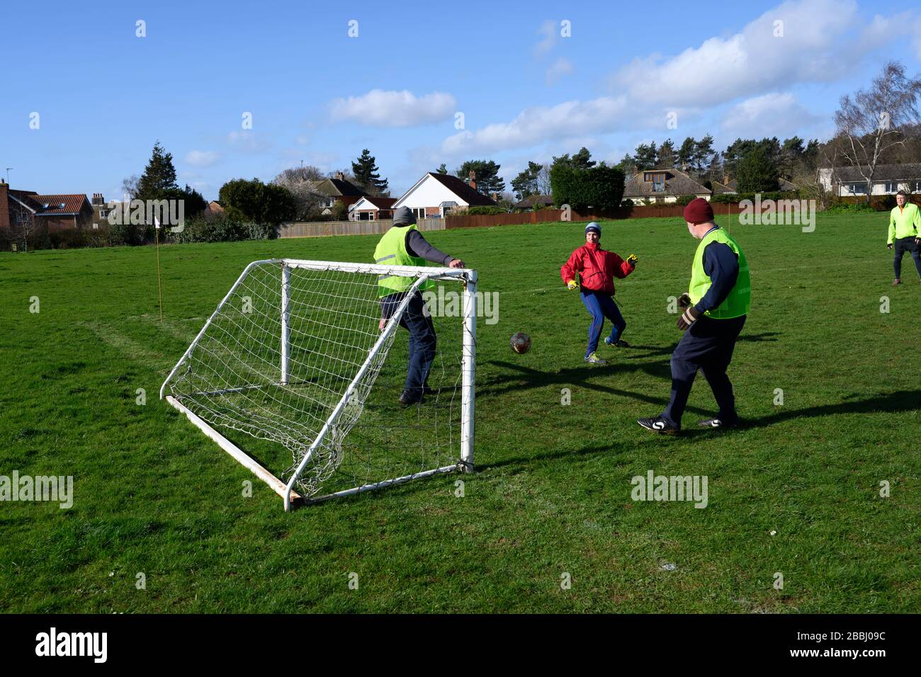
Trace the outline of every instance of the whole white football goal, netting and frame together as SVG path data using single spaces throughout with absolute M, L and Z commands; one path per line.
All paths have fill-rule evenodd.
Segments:
M 379 281 L 394 276 L 407 290 L 382 299 Z M 475 292 L 468 269 L 250 263 L 160 398 L 286 509 L 472 470 Z M 419 349 L 406 328 L 419 320 L 416 295 L 437 339 L 421 362 L 431 358 L 425 394 L 405 405 L 407 363 Z

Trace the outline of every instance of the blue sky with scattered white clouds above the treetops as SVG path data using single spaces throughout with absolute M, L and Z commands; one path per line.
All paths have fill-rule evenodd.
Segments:
M 886 60 L 921 70 L 921 10 L 880 0 L 76 5 L 4 6 L 14 188 L 116 199 L 156 140 L 209 199 L 365 147 L 392 194 L 472 158 L 508 182 L 580 146 L 616 162 L 667 137 L 824 139 Z

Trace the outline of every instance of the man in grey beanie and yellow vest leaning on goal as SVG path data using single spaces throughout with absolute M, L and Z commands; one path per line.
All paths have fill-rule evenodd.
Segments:
M 455 259 L 444 251 L 438 251 L 430 245 L 419 228 L 415 226 L 415 216 L 409 207 L 400 207 L 393 215 L 393 227 L 384 233 L 374 250 L 375 263 L 384 265 L 426 265 L 426 261 L 440 263 L 451 268 L 463 268 L 461 259 Z M 400 307 L 407 290 L 413 286 L 411 277 L 399 275 L 381 275 L 378 279 L 380 297 L 380 324 L 391 319 Z M 417 289 L 406 311 L 400 318 L 400 326 L 409 331 L 409 366 L 406 369 L 406 383 L 403 386 L 399 402 L 402 406 L 421 403 L 428 391 L 426 380 L 428 371 L 435 359 L 437 337 L 432 318 L 426 312 L 426 302 L 420 293 L 431 283 L 424 283 Z

